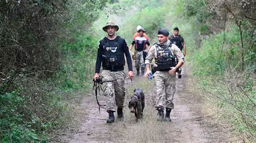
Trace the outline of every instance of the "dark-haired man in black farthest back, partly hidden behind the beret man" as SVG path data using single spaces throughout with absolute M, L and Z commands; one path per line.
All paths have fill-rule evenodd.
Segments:
M 178 27 L 175 27 L 173 29 L 173 34 L 171 35 L 169 40 L 172 42 L 172 44 L 175 44 L 176 46 L 178 46 L 180 51 L 182 51 L 184 49 L 183 55 L 184 56 L 186 55 L 186 44 L 185 44 L 183 37 L 181 37 L 181 35 L 179 35 Z M 181 78 L 181 68 L 178 70 L 178 78 Z

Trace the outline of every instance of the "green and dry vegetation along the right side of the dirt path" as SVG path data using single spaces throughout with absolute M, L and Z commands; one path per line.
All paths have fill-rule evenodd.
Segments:
M 193 75 L 207 104 L 215 117 L 231 123 L 245 140 L 255 140 L 255 21 L 248 18 L 255 14 L 253 4 L 184 2 L 183 7 L 190 5 L 192 11 L 181 13 L 194 27 L 193 33 L 199 33 L 194 38 L 199 44 L 187 45 Z M 207 18 L 202 21 L 202 17 Z

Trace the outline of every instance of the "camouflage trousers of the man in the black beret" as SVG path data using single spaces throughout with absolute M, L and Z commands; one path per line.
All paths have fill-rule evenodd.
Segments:
M 168 71 L 154 73 L 154 94 L 156 95 L 156 108 L 174 108 L 173 96 L 176 91 L 176 75 Z

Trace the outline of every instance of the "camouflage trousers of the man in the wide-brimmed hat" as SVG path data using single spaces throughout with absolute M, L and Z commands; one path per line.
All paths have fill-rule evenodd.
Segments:
M 116 106 L 124 107 L 125 88 L 124 71 L 102 71 L 104 96 L 106 96 L 107 111 L 116 111 Z

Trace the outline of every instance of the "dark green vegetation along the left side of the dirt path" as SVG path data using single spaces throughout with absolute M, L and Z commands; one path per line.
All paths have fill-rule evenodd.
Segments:
M 91 81 L 97 41 L 88 27 L 104 5 L 0 2 L 1 141 L 49 141 L 65 127 L 72 116 L 66 96 Z

